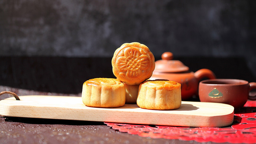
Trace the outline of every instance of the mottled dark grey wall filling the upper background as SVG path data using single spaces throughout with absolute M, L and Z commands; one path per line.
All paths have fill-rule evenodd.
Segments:
M 0 55 L 237 56 L 256 75 L 255 0 L 1 0 Z

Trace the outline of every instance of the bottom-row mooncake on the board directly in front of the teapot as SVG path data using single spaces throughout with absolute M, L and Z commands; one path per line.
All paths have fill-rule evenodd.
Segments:
M 181 106 L 181 84 L 169 80 L 141 83 L 137 105 L 143 109 L 172 110 Z

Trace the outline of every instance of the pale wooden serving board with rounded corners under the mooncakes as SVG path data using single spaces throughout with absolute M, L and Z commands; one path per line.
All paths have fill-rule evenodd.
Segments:
M 118 108 L 88 107 L 81 97 L 19 96 L 0 101 L 0 114 L 10 117 L 103 121 L 188 127 L 223 127 L 233 123 L 234 107 L 222 103 L 183 101 L 177 110 L 147 110 L 137 104 Z

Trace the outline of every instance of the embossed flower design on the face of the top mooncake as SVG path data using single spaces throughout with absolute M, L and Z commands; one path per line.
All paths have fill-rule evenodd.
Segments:
M 138 77 L 144 70 L 148 69 L 147 55 L 141 54 L 138 48 L 129 48 L 124 50 L 124 56 L 120 56 L 116 62 L 116 68 L 128 77 Z

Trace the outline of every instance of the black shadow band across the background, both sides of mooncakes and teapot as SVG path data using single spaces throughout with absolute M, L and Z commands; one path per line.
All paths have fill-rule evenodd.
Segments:
M 42 92 L 81 93 L 86 80 L 115 78 L 111 59 L 110 57 L 0 56 L 0 85 Z M 189 66 L 193 72 L 208 68 L 217 78 L 256 82 L 243 58 L 179 57 L 177 59 Z

